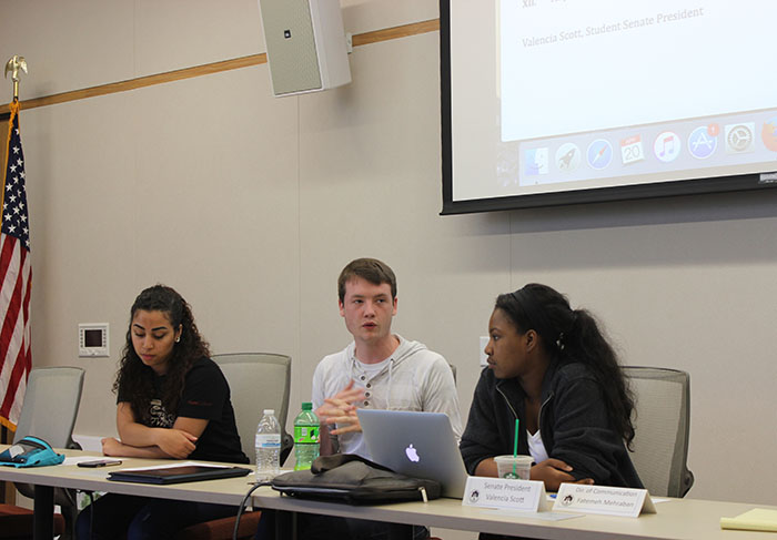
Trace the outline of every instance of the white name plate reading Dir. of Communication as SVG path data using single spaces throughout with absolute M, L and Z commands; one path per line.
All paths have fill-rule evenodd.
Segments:
M 553 511 L 636 518 L 640 513 L 656 513 L 656 507 L 646 489 L 562 483 Z

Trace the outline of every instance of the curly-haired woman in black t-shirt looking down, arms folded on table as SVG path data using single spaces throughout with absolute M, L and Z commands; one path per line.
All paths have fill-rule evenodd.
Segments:
M 121 440 L 102 439 L 105 456 L 191 458 L 248 463 L 230 388 L 210 359 L 189 304 L 170 287 L 149 287 L 130 312 L 113 391 Z M 193 523 L 233 516 L 223 505 L 107 495 L 78 520 L 80 539 L 172 538 Z

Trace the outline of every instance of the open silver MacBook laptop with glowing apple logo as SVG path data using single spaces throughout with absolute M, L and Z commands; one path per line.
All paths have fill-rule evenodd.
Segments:
M 395 472 L 436 480 L 442 496 L 461 499 L 466 469 L 443 412 L 356 409 L 372 460 Z

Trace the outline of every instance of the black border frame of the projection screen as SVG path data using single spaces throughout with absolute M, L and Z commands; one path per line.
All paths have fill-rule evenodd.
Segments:
M 443 180 L 443 208 L 441 215 L 777 187 L 777 180 L 764 180 L 761 179 L 761 173 L 746 173 L 614 187 L 579 189 L 554 193 L 454 201 L 453 123 L 451 109 L 451 0 L 440 0 L 440 84 Z

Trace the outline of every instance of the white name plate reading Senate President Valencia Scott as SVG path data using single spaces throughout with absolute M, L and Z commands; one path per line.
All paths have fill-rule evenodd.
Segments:
M 462 505 L 525 512 L 549 509 L 544 482 L 486 477 L 467 478 Z

